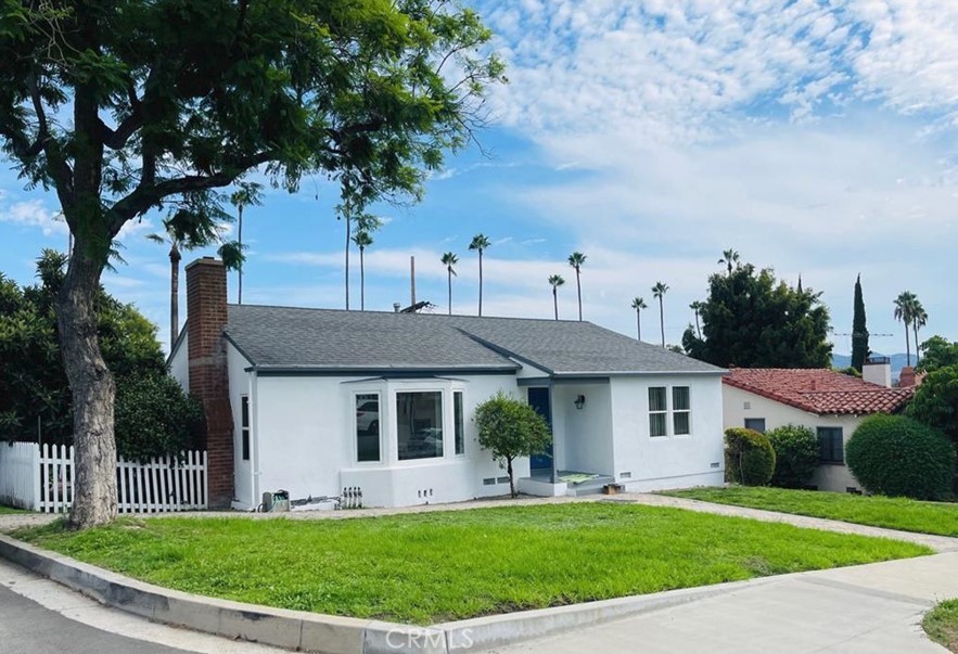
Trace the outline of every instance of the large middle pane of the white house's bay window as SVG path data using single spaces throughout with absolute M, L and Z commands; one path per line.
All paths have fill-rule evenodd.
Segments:
M 399 461 L 443 457 L 443 392 L 396 393 L 396 451 Z

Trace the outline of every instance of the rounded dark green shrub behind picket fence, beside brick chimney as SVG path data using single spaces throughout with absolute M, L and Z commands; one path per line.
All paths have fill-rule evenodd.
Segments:
M 117 380 L 114 420 L 117 453 L 133 461 L 200 448 L 206 432 L 203 406 L 166 374 Z

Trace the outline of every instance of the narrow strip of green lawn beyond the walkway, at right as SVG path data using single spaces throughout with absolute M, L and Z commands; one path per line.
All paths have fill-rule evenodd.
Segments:
M 679 498 L 958 537 L 958 504 L 843 492 L 731 486 L 669 491 Z

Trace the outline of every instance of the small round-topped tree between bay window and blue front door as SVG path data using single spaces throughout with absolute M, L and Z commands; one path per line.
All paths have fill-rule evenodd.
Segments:
M 512 462 L 545 452 L 552 440 L 549 426 L 535 409 L 501 390 L 476 407 L 475 424 L 480 446 L 509 474 L 509 492 L 515 497 Z

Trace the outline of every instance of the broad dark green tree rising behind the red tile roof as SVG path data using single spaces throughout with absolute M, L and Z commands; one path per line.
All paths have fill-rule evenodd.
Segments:
M 820 294 L 776 280 L 751 264 L 708 278 L 708 297 L 699 309 L 702 338 L 682 335 L 689 356 L 715 366 L 827 368 L 828 308 Z

